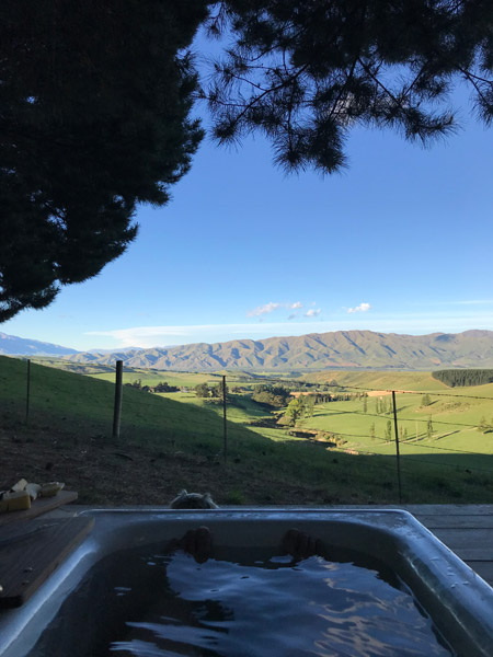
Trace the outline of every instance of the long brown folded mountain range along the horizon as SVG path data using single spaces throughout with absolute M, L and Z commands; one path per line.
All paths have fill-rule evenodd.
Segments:
M 180 371 L 305 371 L 325 369 L 493 368 L 493 332 L 401 335 L 336 331 L 291 337 L 236 339 L 174 347 L 78 353 L 76 362 Z

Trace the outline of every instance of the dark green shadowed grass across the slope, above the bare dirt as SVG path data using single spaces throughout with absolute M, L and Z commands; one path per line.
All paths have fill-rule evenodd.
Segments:
M 65 441 L 67 450 L 111 440 L 113 383 L 33 365 L 26 426 L 25 369 L 21 360 L 0 358 L 0 429 L 11 453 L 35 449 L 39 445 L 36 430 L 47 442 L 50 433 L 56 435 L 58 445 Z M 24 429 L 28 429 L 30 443 L 22 440 Z M 228 422 L 225 465 L 222 418 L 217 408 L 175 402 L 131 388 L 124 388 L 122 430 L 115 445 L 141 446 L 168 454 L 168 468 L 173 466 L 171 457 L 182 452 L 195 459 L 191 469 L 205 469 L 204 476 L 208 479 L 217 477 L 215 472 L 219 472 L 209 470 L 209 465 L 221 468 L 222 479 L 227 471 L 239 493 L 259 489 L 256 498 L 251 493 L 250 497 L 245 495 L 246 500 L 261 503 L 267 498 L 267 489 L 268 496 L 277 499 L 278 489 L 286 504 L 297 503 L 297 491 L 301 491 L 300 503 L 399 502 L 394 456 L 355 450 L 344 453 L 311 440 L 275 441 L 242 424 Z M 92 458 L 99 458 L 96 450 L 93 452 Z M 493 503 L 493 456 L 433 450 L 405 454 L 401 459 L 401 492 L 402 502 L 408 503 Z

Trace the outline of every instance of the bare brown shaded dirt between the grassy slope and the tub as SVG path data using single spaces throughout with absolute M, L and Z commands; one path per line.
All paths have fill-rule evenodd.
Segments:
M 80 504 L 167 505 L 176 494 L 209 492 L 219 504 L 331 504 L 320 487 L 275 480 L 262 466 L 231 454 L 222 457 L 163 451 L 158 447 L 121 443 L 104 436 L 81 439 L 49 427 L 0 428 L 0 489 L 25 477 L 30 482 L 65 482 L 79 493 Z M 270 458 L 266 453 L 259 456 Z

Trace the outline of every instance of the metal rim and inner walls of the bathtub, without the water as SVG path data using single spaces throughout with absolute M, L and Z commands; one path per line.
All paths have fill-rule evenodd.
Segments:
M 39 637 L 46 627 L 56 626 L 57 614 L 84 575 L 112 553 L 164 545 L 199 525 L 210 528 L 217 546 L 268 548 L 275 553 L 284 533 L 296 527 L 335 549 L 364 551 L 383 561 L 411 588 L 458 656 L 493 655 L 493 589 L 406 511 L 146 508 L 82 514 L 95 517 L 91 534 L 22 608 L 0 612 L 0 657 L 36 655 Z M 79 654 L 79 636 L 89 641 L 95 622 L 84 619 L 98 619 L 98 604 L 104 603 L 95 596 L 87 610 L 78 610 L 80 623 L 61 633 L 51 657 Z M 66 629 L 67 620 L 59 624 Z

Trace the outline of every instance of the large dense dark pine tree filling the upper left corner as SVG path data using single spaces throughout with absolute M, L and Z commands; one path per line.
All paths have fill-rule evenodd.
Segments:
M 0 3 L 0 322 L 95 276 L 203 131 L 185 53 L 205 0 Z

